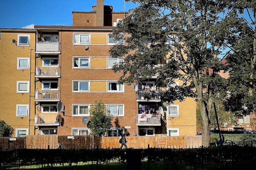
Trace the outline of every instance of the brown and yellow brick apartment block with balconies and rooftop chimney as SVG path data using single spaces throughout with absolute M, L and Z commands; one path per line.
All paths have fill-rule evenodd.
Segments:
M 36 25 L 29 33 L 23 29 L 14 33 L 1 29 L 0 94 L 4 102 L 0 103 L 0 110 L 8 110 L 8 115 L 1 113 L 0 119 L 16 129 L 15 136 L 20 136 L 17 129 L 23 129 L 26 135 L 86 135 L 90 129 L 83 120 L 90 120 L 89 109 L 96 100 L 105 103 L 113 116 L 113 128 L 108 136 L 124 132 L 132 136 L 134 131 L 140 136 L 196 134 L 194 99 L 174 105 L 166 105 L 158 97 L 146 100 L 148 90 L 165 90 L 155 87 L 156 77 L 135 86 L 117 84 L 121 73 L 114 73 L 111 68 L 123 58 L 111 58 L 108 51 L 114 44 L 123 42 L 109 35 L 127 12 L 113 12 L 112 6 L 97 0 L 92 11 L 72 14 L 73 26 Z M 29 45 L 12 43 L 21 33 L 30 35 Z M 20 56 L 15 51 L 18 47 L 26 53 Z M 31 66 L 16 68 L 19 61 L 24 62 L 20 57 L 30 59 Z M 15 91 L 23 81 L 29 89 Z M 20 104 L 28 107 L 26 116 L 17 115 L 16 107 Z M 163 112 L 159 111 L 160 106 Z M 117 126 L 114 121 L 119 122 Z

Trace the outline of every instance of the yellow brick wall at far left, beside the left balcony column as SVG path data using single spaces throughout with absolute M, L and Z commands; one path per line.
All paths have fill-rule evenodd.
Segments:
M 18 42 L 18 34 L 29 34 L 30 46 L 15 46 L 12 39 Z M 1 32 L 0 43 L 0 120 L 4 120 L 14 130 L 30 128 L 30 134 L 34 135 L 34 121 L 29 121 L 29 119 L 34 119 L 34 98 L 30 95 L 34 95 L 35 51 L 31 49 L 35 49 L 35 33 Z M 17 69 L 17 57 L 31 57 L 31 68 L 28 70 Z M 17 81 L 29 81 L 31 94 L 16 93 Z M 29 104 L 30 117 L 16 117 L 16 104 Z

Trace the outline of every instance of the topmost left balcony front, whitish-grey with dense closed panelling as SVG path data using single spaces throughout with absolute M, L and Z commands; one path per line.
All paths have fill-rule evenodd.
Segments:
M 37 54 L 60 54 L 59 42 L 37 42 Z

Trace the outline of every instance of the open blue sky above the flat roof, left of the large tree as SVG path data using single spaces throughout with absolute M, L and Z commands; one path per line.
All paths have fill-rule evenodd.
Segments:
M 72 25 L 72 11 L 92 11 L 96 0 L 3 0 L 0 10 L 0 28 L 34 28 L 34 25 Z M 124 0 L 104 0 L 113 11 L 124 11 Z M 137 5 L 125 3 L 125 11 Z

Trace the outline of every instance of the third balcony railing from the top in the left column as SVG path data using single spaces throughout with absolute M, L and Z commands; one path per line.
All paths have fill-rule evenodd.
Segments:
M 36 90 L 35 101 L 60 101 L 60 90 Z

